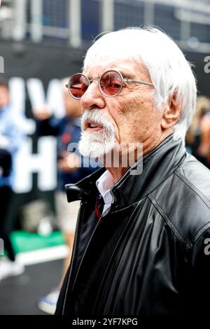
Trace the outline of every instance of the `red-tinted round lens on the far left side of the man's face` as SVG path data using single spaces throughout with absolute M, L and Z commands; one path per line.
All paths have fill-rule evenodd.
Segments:
M 83 74 L 74 74 L 69 80 L 69 92 L 73 97 L 81 98 L 87 87 L 89 80 Z

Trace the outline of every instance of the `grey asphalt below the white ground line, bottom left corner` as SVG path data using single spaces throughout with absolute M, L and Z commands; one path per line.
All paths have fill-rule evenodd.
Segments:
M 57 286 L 62 259 L 27 265 L 20 276 L 0 281 L 0 315 L 44 315 L 38 300 Z M 45 314 L 46 315 L 46 314 Z

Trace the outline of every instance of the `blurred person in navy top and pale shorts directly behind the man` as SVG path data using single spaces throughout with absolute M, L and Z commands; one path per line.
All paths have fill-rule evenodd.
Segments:
M 73 248 L 74 232 L 76 227 L 76 218 L 78 216 L 79 201 L 68 204 L 64 186 L 66 183 L 76 183 L 80 179 L 93 172 L 94 169 L 80 167 L 80 156 L 76 153 L 69 153 L 67 148 L 69 143 L 78 143 L 80 140 L 80 101 L 69 97 L 65 85 L 68 79 L 61 81 L 65 116 L 57 119 L 52 116 L 47 109 L 41 111 L 33 110 L 34 116 L 38 120 L 37 130 L 41 136 L 52 135 L 57 137 L 57 191 L 55 193 L 55 207 L 57 212 L 57 222 L 62 230 L 64 239 L 69 248 L 69 254 L 64 259 L 62 276 L 57 288 L 53 289 L 48 295 L 41 298 L 38 307 L 49 314 L 55 313 L 59 290 L 66 270 L 69 267 L 71 253 Z M 71 167 L 69 166 L 71 163 Z

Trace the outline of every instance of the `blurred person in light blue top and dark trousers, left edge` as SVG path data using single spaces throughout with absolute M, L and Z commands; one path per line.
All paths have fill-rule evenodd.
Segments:
M 10 232 L 15 223 L 10 223 L 8 209 L 13 203 L 13 158 L 20 148 L 25 133 L 23 117 L 10 106 L 8 81 L 0 79 L 0 237 L 3 239 L 8 258 L 0 259 L 0 280 L 24 272 L 23 265 L 15 261 L 15 251 L 10 241 Z

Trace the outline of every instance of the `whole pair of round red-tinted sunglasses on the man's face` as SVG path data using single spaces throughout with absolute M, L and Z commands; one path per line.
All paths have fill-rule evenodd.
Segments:
M 153 83 L 144 80 L 135 80 L 131 78 L 123 78 L 122 74 L 116 70 L 109 70 L 102 73 L 101 78 L 88 79 L 83 73 L 73 74 L 69 78 L 69 83 L 66 88 L 69 90 L 71 97 L 80 99 L 85 94 L 87 88 L 92 81 L 97 80 L 99 83 L 99 90 L 106 97 L 114 97 L 123 89 L 124 82 L 127 83 L 142 83 L 144 85 L 153 85 Z

